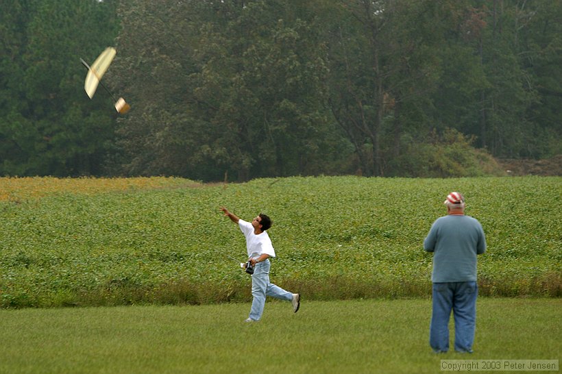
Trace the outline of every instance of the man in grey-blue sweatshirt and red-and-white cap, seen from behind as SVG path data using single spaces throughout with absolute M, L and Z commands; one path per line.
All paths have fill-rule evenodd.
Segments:
M 465 216 L 465 199 L 451 192 L 445 200 L 448 214 L 437 219 L 424 240 L 433 252 L 430 345 L 436 353 L 449 349 L 449 318 L 454 315 L 454 349 L 472 353 L 476 329 L 476 255 L 486 251 L 482 225 Z

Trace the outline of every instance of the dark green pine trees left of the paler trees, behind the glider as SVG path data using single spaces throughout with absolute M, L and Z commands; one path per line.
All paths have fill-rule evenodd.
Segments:
M 0 5 L 0 175 L 99 175 L 112 99 L 84 94 L 86 70 L 117 34 L 116 1 Z

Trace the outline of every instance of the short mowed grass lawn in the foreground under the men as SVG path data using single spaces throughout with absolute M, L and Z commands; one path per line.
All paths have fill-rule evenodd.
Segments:
M 442 359 L 559 360 L 561 299 L 478 299 L 475 352 L 428 346 L 430 299 L 0 310 L 1 373 L 437 373 Z M 451 334 L 451 342 L 454 333 Z M 451 343 L 452 344 L 452 343 Z

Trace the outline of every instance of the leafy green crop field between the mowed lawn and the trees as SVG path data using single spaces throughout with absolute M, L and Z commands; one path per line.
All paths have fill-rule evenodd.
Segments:
M 561 177 L 0 178 L 0 306 L 249 301 L 221 205 L 271 216 L 271 279 L 308 300 L 426 297 L 422 242 L 451 190 L 487 234 L 480 295 L 562 295 Z

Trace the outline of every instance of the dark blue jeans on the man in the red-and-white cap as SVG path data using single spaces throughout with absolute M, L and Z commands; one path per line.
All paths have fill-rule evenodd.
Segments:
M 449 349 L 449 317 L 454 315 L 454 350 L 472 353 L 476 329 L 476 282 L 433 284 L 429 344 L 435 352 Z

